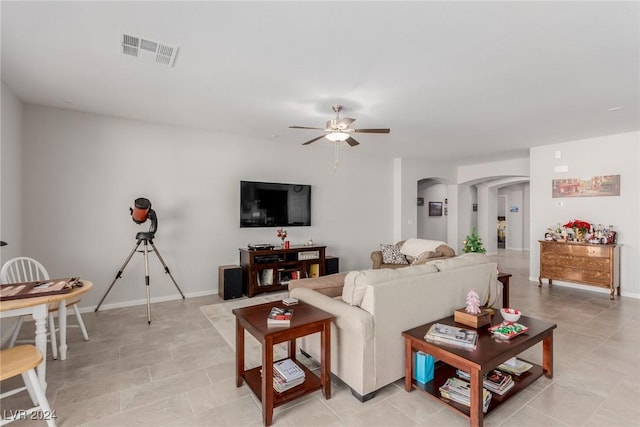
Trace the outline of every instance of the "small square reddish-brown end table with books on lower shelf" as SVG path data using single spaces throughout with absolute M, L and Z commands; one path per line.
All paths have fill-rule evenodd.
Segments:
M 236 386 L 243 380 L 262 402 L 265 426 L 271 425 L 273 408 L 322 389 L 325 399 L 331 398 L 331 320 L 332 314 L 312 305 L 300 302 L 290 306 L 293 309 L 290 326 L 267 326 L 267 315 L 272 307 L 286 307 L 282 301 L 268 302 L 244 308 L 236 308 Z M 249 332 L 262 343 L 262 366 L 245 371 L 244 331 Z M 298 363 L 305 372 L 305 382 L 284 393 L 273 389 L 273 346 L 289 342 L 289 358 L 296 361 L 296 338 L 320 333 L 321 360 L 320 378 Z M 262 372 L 261 372 L 262 371 Z

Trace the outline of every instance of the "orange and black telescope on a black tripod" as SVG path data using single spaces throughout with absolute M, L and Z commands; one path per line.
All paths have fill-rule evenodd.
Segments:
M 113 288 L 113 285 L 115 285 L 116 281 L 122 277 L 122 272 L 124 271 L 127 264 L 129 264 L 129 261 L 131 260 L 133 254 L 136 252 L 140 244 L 144 242 L 143 250 L 138 252 L 142 252 L 144 254 L 144 278 L 147 290 L 147 322 L 151 324 L 151 297 L 149 293 L 149 252 L 155 252 L 155 254 L 158 256 L 160 263 L 162 263 L 162 266 L 164 267 L 164 272 L 167 273 L 169 277 L 171 277 L 171 281 L 174 285 L 176 285 L 176 288 L 178 289 L 178 292 L 180 292 L 182 299 L 184 299 L 184 294 L 178 286 L 178 283 L 176 283 L 176 280 L 173 278 L 173 275 L 169 271 L 169 267 L 167 267 L 167 264 L 165 264 L 164 260 L 160 256 L 158 248 L 156 248 L 156 245 L 153 243 L 156 231 L 158 230 L 158 217 L 156 216 L 156 211 L 151 209 L 151 202 L 149 201 L 149 199 L 146 199 L 144 197 L 137 198 L 133 202 L 133 207 L 129 208 L 129 214 L 131 215 L 131 219 L 133 220 L 133 222 L 135 222 L 136 224 L 144 224 L 147 220 L 150 220 L 151 225 L 149 226 L 149 231 L 143 231 L 136 234 L 136 243 L 133 245 L 133 249 L 131 249 L 131 252 L 129 252 L 129 256 L 125 260 L 124 264 L 122 264 L 122 267 L 120 267 L 120 270 L 118 270 L 115 279 L 113 279 L 113 282 L 111 282 L 109 289 L 107 289 L 107 292 L 105 292 L 104 296 L 100 300 L 100 303 L 94 311 L 98 311 L 104 299 L 107 297 L 109 292 L 111 292 L 111 288 Z M 148 248 L 149 244 L 153 249 Z

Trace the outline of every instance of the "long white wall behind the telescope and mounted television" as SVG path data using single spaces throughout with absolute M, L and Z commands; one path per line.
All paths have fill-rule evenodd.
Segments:
M 3 98 L 4 99 L 4 98 Z M 312 185 L 312 226 L 288 228 L 292 244 L 313 238 L 341 270 L 370 268 L 392 240 L 393 162 L 345 148 L 161 126 L 26 105 L 24 249 L 54 276 L 94 282 L 95 306 L 135 243 L 129 207 L 147 197 L 159 218 L 156 246 L 185 294 L 217 292 L 217 267 L 238 248 L 277 242 L 275 228 L 239 227 L 240 180 Z M 415 192 L 414 192 L 415 200 Z M 152 254 L 151 295 L 178 293 Z M 134 255 L 103 307 L 145 298 L 142 255 Z

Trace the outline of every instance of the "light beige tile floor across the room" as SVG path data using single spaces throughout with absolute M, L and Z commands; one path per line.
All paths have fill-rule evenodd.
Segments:
M 485 419 L 488 426 L 640 426 L 640 301 L 528 280 L 528 252 L 501 250 L 511 306 L 558 324 L 554 378 L 540 378 Z M 259 403 L 235 387 L 234 354 L 199 307 L 217 296 L 84 313 L 91 340 L 69 330 L 65 361 L 49 360 L 47 395 L 61 427 L 260 426 Z M 29 331 L 29 325 L 23 328 Z M 526 352 L 540 362 L 539 346 Z M 11 380 L 0 386 L 6 390 Z M 24 407 L 26 394 L 2 402 Z M 402 380 L 366 402 L 339 381 L 276 408 L 277 426 L 465 426 L 468 420 Z M 44 422 L 21 421 L 35 426 Z

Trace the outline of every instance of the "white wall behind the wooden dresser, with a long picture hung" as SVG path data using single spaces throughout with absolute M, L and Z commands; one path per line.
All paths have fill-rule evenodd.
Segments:
M 622 294 L 640 297 L 639 145 L 640 132 L 630 132 L 531 149 L 531 280 L 538 279 L 538 240 L 544 237 L 546 228 L 582 219 L 595 224 L 614 225 L 618 231 L 618 243 L 622 245 Z M 561 152 L 561 159 L 554 158 L 556 151 Z M 554 167 L 561 165 L 568 166 L 569 171 L 554 172 Z M 553 179 L 618 174 L 620 196 L 551 197 Z M 558 206 L 558 202 L 562 202 L 562 206 Z

